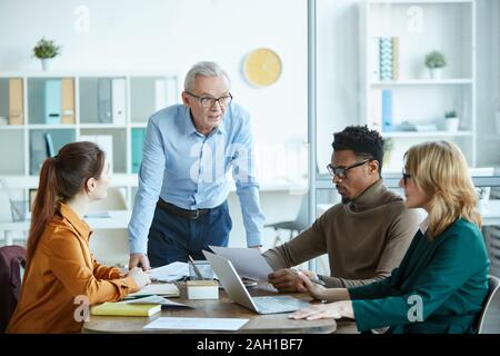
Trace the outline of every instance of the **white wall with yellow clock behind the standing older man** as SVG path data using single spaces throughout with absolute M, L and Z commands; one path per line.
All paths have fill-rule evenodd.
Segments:
M 73 11 L 90 10 L 88 33 Z M 286 16 L 283 16 L 283 13 Z M 41 16 L 42 14 L 42 16 Z M 232 78 L 259 141 L 307 138 L 306 0 L 1 0 L 0 70 L 39 70 L 31 49 L 44 36 L 63 46 L 54 69 L 176 70 L 214 60 Z M 282 59 L 280 80 L 256 89 L 241 76 L 243 57 L 268 47 Z

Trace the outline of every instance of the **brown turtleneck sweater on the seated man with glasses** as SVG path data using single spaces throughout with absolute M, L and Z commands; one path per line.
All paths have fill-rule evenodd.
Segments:
M 337 204 L 292 240 L 263 256 L 274 270 L 328 254 L 329 288 L 367 285 L 388 277 L 399 266 L 421 216 L 379 179 L 353 201 Z

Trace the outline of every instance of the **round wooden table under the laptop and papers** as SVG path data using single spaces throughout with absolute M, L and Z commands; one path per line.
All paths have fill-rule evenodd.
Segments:
M 329 334 L 329 333 L 357 333 L 352 320 L 321 319 L 321 320 L 292 320 L 289 314 L 259 315 L 232 303 L 221 288 L 219 299 L 190 300 L 187 298 L 184 283 L 177 283 L 180 298 L 172 300 L 187 304 L 193 308 L 163 308 L 150 317 L 119 317 L 119 316 L 90 316 L 82 327 L 83 333 L 228 333 L 219 330 L 144 330 L 142 327 L 158 317 L 210 317 L 210 318 L 246 318 L 249 319 L 239 330 L 229 333 L 257 333 L 257 334 Z M 270 285 L 259 285 L 249 288 L 252 296 L 276 295 Z M 303 300 L 311 300 L 304 294 L 292 294 Z M 316 301 L 317 303 L 317 301 Z

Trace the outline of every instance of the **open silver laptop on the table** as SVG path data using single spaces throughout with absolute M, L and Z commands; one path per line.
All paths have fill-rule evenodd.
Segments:
M 203 250 L 203 255 L 210 261 L 229 298 L 250 310 L 259 314 L 277 314 L 310 306 L 309 303 L 291 296 L 252 297 L 229 259 L 206 250 Z

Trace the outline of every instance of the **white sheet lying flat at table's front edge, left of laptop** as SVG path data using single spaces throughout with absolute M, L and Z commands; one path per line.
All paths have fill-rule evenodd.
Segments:
M 237 318 L 172 318 L 160 317 L 144 329 L 182 329 L 182 330 L 238 330 L 249 319 Z

